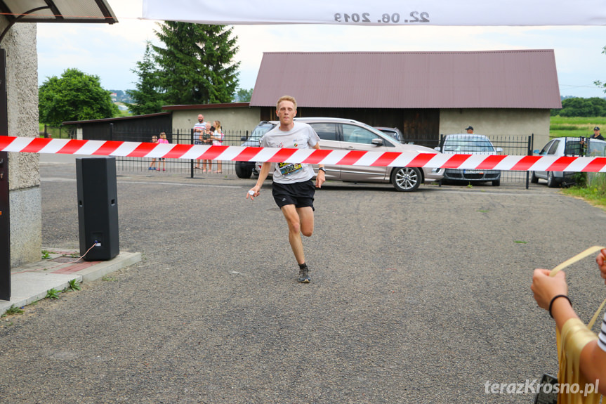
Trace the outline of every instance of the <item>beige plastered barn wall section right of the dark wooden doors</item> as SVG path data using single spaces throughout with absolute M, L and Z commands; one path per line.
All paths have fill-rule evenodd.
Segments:
M 550 110 L 526 109 L 444 109 L 440 110 L 440 134 L 474 133 L 490 136 L 530 136 L 534 133 L 534 149 L 549 140 Z

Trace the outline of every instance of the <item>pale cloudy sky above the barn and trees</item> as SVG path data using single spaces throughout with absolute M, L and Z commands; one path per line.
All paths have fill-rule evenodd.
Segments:
M 145 41 L 158 44 L 156 22 L 140 20 L 143 0 L 109 0 L 119 23 L 38 24 L 39 84 L 75 67 L 100 77 L 105 89 L 133 89 L 131 72 Z M 263 52 L 277 51 L 489 51 L 555 49 L 562 96 L 604 97 L 606 27 L 355 27 L 237 25 L 242 89 L 253 88 Z

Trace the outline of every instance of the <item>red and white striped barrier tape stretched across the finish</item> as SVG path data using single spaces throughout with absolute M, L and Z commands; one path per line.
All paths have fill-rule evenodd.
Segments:
M 0 136 L 0 152 L 164 157 L 240 162 L 289 162 L 348 166 L 424 167 L 501 171 L 606 172 L 606 157 L 450 155 L 420 152 L 250 148 L 117 141 L 77 141 Z

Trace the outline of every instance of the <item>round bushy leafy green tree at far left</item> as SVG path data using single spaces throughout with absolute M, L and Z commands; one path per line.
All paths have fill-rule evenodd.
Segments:
M 112 118 L 118 107 L 110 91 L 101 88 L 98 76 L 67 69 L 61 77 L 47 77 L 39 87 L 40 122 L 59 126 L 65 121 Z

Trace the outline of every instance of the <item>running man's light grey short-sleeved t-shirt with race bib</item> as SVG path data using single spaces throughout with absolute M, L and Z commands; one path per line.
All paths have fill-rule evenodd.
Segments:
M 311 126 L 303 122 L 294 122 L 290 131 L 281 131 L 276 126 L 261 138 L 263 148 L 309 149 L 320 141 L 320 137 Z M 282 184 L 300 183 L 313 178 L 311 164 L 275 163 L 273 181 Z

